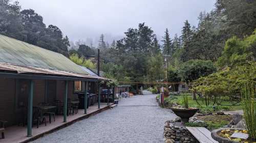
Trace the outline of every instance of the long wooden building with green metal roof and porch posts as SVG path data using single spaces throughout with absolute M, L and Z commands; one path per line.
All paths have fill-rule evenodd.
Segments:
M 6 127 L 25 123 L 32 136 L 33 107 L 56 101 L 67 122 L 68 101 L 77 100 L 78 93 L 100 95 L 102 80 L 109 79 L 91 75 L 60 53 L 0 35 L 0 120 Z

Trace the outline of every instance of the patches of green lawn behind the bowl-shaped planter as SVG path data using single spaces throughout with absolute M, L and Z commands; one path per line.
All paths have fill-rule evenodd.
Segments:
M 169 99 L 165 99 L 165 100 L 168 102 L 172 102 L 172 103 L 182 104 L 182 101 L 183 101 L 183 96 L 169 96 L 168 98 Z M 199 102 L 199 103 L 201 103 L 201 102 Z M 228 101 L 223 101 L 222 104 L 223 105 L 215 105 L 216 111 L 218 111 L 218 110 L 242 110 L 241 105 L 231 106 L 231 103 Z M 192 96 L 188 96 L 188 105 L 189 105 L 189 107 L 200 108 L 201 112 L 213 112 L 214 111 L 213 106 L 205 106 L 204 104 L 201 104 L 202 107 L 199 106 L 198 103 L 196 102 L 196 100 L 192 99 Z

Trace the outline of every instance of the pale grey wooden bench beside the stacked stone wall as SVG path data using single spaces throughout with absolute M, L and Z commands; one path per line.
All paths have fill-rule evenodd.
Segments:
M 187 130 L 201 143 L 218 143 L 214 140 L 210 131 L 204 127 L 186 127 Z

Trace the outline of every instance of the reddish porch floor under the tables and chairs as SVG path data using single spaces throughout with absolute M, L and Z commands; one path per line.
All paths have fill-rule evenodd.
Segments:
M 95 115 L 105 109 L 108 109 L 110 105 L 107 105 L 106 103 L 100 103 L 100 109 L 98 108 L 98 104 L 95 104 L 93 106 L 89 106 L 87 109 L 87 114 L 84 114 L 84 109 L 79 109 L 78 113 L 74 115 L 67 116 L 67 122 L 63 122 L 63 116 L 57 115 L 55 118 L 55 122 L 52 119 L 51 124 L 49 123 L 49 118 L 47 118 L 47 126 L 45 124 L 39 125 L 39 128 L 36 128 L 36 125 L 32 128 L 32 136 L 27 137 L 27 127 L 23 126 L 11 126 L 6 128 L 5 131 L 5 138 L 0 139 L 0 143 L 6 143 L 6 142 L 28 142 L 33 139 L 36 139 L 40 136 L 43 136 L 44 134 L 51 133 L 55 130 L 61 129 L 63 127 L 69 126 L 79 120 L 88 118 L 92 115 Z

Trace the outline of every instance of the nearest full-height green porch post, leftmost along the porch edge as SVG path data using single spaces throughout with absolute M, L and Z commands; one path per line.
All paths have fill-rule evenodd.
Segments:
M 32 136 L 32 115 L 33 115 L 33 90 L 34 90 L 34 81 L 30 80 L 29 88 L 29 98 L 28 98 L 28 126 L 27 126 L 27 136 Z

